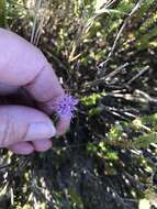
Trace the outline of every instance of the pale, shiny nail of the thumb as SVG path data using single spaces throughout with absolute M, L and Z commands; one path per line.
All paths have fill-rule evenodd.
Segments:
M 43 140 L 53 138 L 56 130 L 53 123 L 31 123 L 26 133 L 25 141 Z

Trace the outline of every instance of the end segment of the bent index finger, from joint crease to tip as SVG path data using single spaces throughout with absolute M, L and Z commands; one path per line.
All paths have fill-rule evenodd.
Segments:
M 38 101 L 40 107 L 49 114 L 54 112 L 53 105 L 55 98 L 65 95 L 55 72 L 48 63 L 45 64 L 42 70 L 24 88 Z M 69 124 L 70 117 L 60 118 L 56 127 L 56 134 L 64 134 L 69 128 Z

